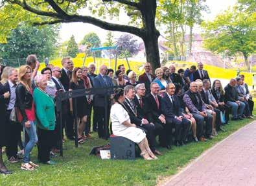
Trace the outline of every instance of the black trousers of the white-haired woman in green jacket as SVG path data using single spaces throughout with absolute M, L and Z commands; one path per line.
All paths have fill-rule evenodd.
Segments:
M 38 128 L 38 160 L 42 163 L 50 161 L 50 151 L 52 148 L 53 130 L 43 130 Z

